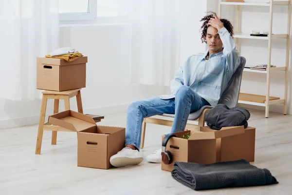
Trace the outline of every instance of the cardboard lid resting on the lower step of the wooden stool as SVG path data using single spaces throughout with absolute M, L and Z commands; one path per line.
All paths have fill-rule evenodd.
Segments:
M 77 132 L 96 126 L 91 117 L 71 110 L 50 116 L 49 123 Z

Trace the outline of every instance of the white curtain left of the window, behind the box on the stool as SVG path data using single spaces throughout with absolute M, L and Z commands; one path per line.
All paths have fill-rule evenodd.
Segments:
M 36 59 L 59 46 L 58 0 L 0 0 L 0 97 L 39 98 Z

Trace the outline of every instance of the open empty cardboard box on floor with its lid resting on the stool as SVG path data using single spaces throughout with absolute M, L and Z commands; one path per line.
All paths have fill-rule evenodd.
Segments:
M 97 126 L 92 117 L 67 110 L 49 117 L 49 123 L 77 132 L 77 166 L 109 169 L 110 156 L 125 147 L 125 128 Z

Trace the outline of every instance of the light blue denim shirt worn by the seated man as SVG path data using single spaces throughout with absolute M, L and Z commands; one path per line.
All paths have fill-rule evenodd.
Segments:
M 180 66 L 175 78 L 170 82 L 172 94 L 160 96 L 161 99 L 175 98 L 178 88 L 186 85 L 206 99 L 211 106 L 217 105 L 220 96 L 240 64 L 239 52 L 228 30 L 223 27 L 218 34 L 224 45 L 223 51 L 211 54 L 208 60 L 206 60 L 206 56 L 209 50 L 204 54 L 190 56 Z

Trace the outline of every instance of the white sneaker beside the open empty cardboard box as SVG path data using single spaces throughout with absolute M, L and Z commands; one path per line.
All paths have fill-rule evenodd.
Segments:
M 143 157 L 138 150 L 132 150 L 128 147 L 123 148 L 116 155 L 110 157 L 110 164 L 114 167 L 125 167 L 128 165 L 137 165 L 143 161 Z

